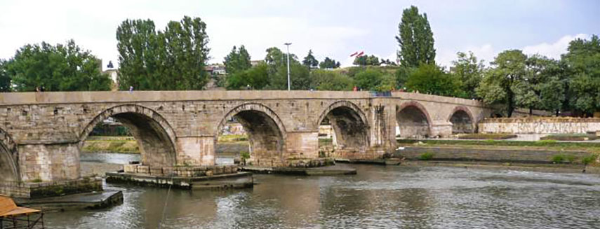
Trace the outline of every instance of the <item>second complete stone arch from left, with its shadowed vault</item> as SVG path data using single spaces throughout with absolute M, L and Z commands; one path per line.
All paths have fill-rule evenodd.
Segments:
M 231 109 L 215 129 L 215 144 L 228 120 L 235 119 L 248 134 L 251 160 L 255 165 L 275 165 L 284 161 L 286 128 L 279 116 L 259 103 L 246 103 Z

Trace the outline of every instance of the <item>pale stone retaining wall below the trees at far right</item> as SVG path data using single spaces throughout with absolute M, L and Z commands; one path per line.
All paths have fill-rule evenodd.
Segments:
M 584 134 L 600 130 L 600 118 L 486 118 L 481 133 Z

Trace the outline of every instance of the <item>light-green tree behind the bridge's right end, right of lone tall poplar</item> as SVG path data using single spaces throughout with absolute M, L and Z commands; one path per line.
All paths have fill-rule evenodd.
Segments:
M 461 52 L 456 53 L 456 55 L 458 60 L 452 62 L 454 65 L 451 68 L 452 74 L 460 81 L 460 89 L 465 92 L 467 99 L 479 99 L 475 89 L 484 77 L 484 61 L 478 61 L 472 52 L 469 52 L 468 56 L 466 53 Z

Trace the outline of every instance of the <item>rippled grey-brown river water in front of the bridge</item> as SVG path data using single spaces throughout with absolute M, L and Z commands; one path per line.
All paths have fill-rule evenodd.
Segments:
M 349 165 L 354 176 L 255 175 L 246 190 L 123 190 L 110 209 L 50 212 L 50 228 L 600 228 L 600 176 Z M 165 211 L 164 211 L 165 210 Z

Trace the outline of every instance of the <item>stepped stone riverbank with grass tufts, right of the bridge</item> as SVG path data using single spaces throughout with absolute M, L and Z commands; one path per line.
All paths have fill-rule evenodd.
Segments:
M 402 139 L 392 158 L 402 165 L 600 174 L 600 144 L 566 141 Z

